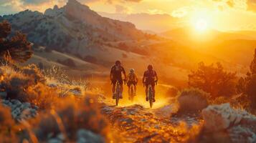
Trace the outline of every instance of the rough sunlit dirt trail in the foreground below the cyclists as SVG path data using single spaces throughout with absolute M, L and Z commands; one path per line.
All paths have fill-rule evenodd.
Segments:
M 171 117 L 173 104 L 155 109 L 141 104 L 115 107 L 110 99 L 103 102 L 102 112 L 109 119 L 113 132 L 118 133 L 119 140 L 114 142 L 186 142 L 202 122 L 193 116 Z

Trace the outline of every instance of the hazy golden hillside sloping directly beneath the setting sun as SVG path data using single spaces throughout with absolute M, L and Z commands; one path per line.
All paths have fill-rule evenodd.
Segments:
M 217 31 L 209 29 L 200 33 L 189 27 L 173 29 L 161 34 L 179 44 L 202 54 L 209 54 L 223 61 L 242 66 L 250 65 L 256 46 L 255 31 Z M 228 53 L 228 54 L 227 54 Z

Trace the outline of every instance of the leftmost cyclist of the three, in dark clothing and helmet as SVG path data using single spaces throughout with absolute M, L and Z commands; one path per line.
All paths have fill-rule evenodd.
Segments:
M 123 98 L 123 79 L 122 79 L 122 73 L 126 79 L 126 74 L 125 74 L 125 69 L 123 68 L 123 66 L 121 66 L 121 62 L 120 61 L 115 61 L 115 65 L 112 66 L 111 71 L 110 71 L 110 80 L 113 84 L 112 87 L 112 92 L 113 92 L 113 99 L 115 99 L 115 84 L 116 82 L 119 82 L 120 84 L 120 99 Z

